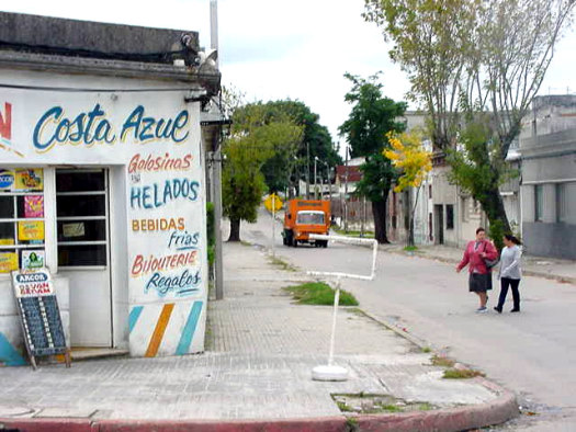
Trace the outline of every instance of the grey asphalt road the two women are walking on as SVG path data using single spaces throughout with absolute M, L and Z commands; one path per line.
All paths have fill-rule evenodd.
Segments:
M 371 250 L 343 243 L 327 249 L 282 246 L 275 226 L 275 254 L 303 271 L 369 274 Z M 262 212 L 245 224 L 245 240 L 271 248 L 272 224 Z M 467 292 L 467 273 L 454 265 L 380 252 L 376 278 L 345 280 L 360 307 L 379 319 L 406 329 L 434 351 L 466 363 L 513 390 L 524 412 L 502 427 L 522 431 L 576 431 L 576 286 L 524 277 L 520 314 L 492 309 L 499 282 L 489 295 L 488 314 L 475 314 L 477 297 Z M 338 350 L 338 348 L 337 348 Z

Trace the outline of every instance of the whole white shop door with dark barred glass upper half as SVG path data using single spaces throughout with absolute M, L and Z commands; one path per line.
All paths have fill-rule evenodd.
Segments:
M 70 289 L 70 343 L 111 348 L 109 171 L 57 169 L 56 214 L 58 271 Z

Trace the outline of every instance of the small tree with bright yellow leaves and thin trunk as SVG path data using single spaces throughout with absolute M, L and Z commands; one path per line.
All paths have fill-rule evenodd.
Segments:
M 422 182 L 432 169 L 432 155 L 425 149 L 421 134 L 416 130 L 400 135 L 388 133 L 386 136 L 392 148 L 385 149 L 383 155 L 392 160 L 392 164 L 400 171 L 394 191 L 402 192 L 406 187 L 416 189 L 408 231 L 408 246 L 414 247 L 414 213 L 418 205 Z

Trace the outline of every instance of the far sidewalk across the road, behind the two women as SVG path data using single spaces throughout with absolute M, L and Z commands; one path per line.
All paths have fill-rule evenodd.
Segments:
M 418 246 L 414 252 L 406 252 L 404 245 L 381 246 L 382 250 L 402 254 L 414 254 L 458 264 L 462 260 L 463 250 L 443 245 Z M 557 258 L 522 255 L 522 274 L 526 276 L 546 277 L 558 282 L 576 284 L 576 261 Z

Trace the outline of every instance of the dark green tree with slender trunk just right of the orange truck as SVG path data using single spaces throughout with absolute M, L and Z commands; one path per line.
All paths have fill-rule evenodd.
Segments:
M 350 73 L 345 77 L 352 82 L 352 89 L 345 100 L 353 106 L 339 132 L 340 135 L 346 135 L 352 157 L 366 158 L 361 167 L 363 175 L 358 183 L 357 193 L 372 203 L 375 239 L 380 243 L 387 243 L 386 202 L 396 171 L 389 159 L 384 158 L 382 150 L 388 146 L 388 132 L 405 129 L 405 124 L 398 118 L 404 115 L 407 104 L 382 95 L 383 86 L 377 82 L 379 73 L 368 79 Z

